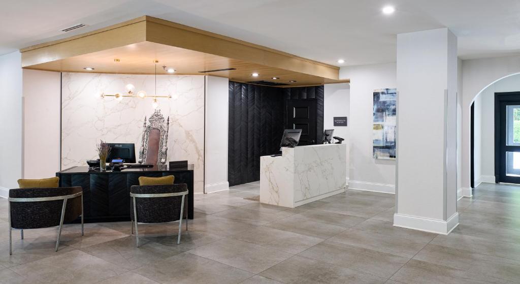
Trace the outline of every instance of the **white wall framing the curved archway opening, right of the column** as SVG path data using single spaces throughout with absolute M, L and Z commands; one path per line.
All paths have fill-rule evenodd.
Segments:
M 470 107 L 473 99 L 487 86 L 520 73 L 520 56 L 472 59 L 462 61 L 462 188 L 464 196 L 470 189 Z

